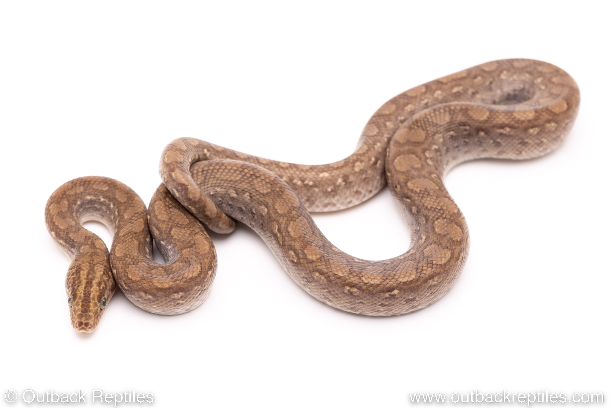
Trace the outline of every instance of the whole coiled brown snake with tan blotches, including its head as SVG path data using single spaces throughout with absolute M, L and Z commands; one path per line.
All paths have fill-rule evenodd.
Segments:
M 247 224 L 293 280 L 328 305 L 371 316 L 423 308 L 449 291 L 468 255 L 468 228 L 442 184 L 445 172 L 476 158 L 550 152 L 572 127 L 579 103 L 577 84 L 554 65 L 492 61 L 392 98 L 365 125 L 356 151 L 335 163 L 296 165 L 176 139 L 163 151 L 164 184 L 148 213 L 116 180 L 72 180 L 51 195 L 45 221 L 72 259 L 65 289 L 73 327 L 94 330 L 115 282 L 153 313 L 184 313 L 204 302 L 217 258 L 195 217 L 224 233 L 234 229 L 232 218 Z M 354 258 L 308 215 L 354 206 L 386 182 L 411 230 L 400 256 Z M 81 226 L 87 220 L 114 234 L 110 253 Z M 152 260 L 149 229 L 166 264 Z

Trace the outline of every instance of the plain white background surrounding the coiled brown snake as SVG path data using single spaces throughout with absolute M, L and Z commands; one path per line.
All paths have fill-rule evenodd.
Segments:
M 610 401 L 610 9 L 597 4 L 2 2 L 1 394 L 352 408 L 406 407 L 409 392 L 548 389 Z M 439 302 L 395 317 L 335 310 L 241 225 L 212 234 L 217 279 L 197 310 L 156 316 L 118 292 L 94 333 L 73 331 L 69 261 L 43 222 L 59 185 L 108 176 L 148 202 L 162 149 L 180 136 L 328 163 L 394 95 L 508 57 L 569 72 L 580 114 L 546 157 L 448 174 L 471 251 Z M 313 217 L 360 258 L 409 245 L 387 189 Z

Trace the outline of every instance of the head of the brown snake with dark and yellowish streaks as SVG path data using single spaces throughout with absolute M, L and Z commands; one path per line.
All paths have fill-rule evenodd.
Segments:
M 80 273 L 72 276 L 79 279 L 66 280 L 70 321 L 77 332 L 91 333 L 113 297 L 115 281 L 109 265 L 94 265 L 92 271 L 85 270 L 89 269 L 87 267 L 76 269 L 80 269 Z

